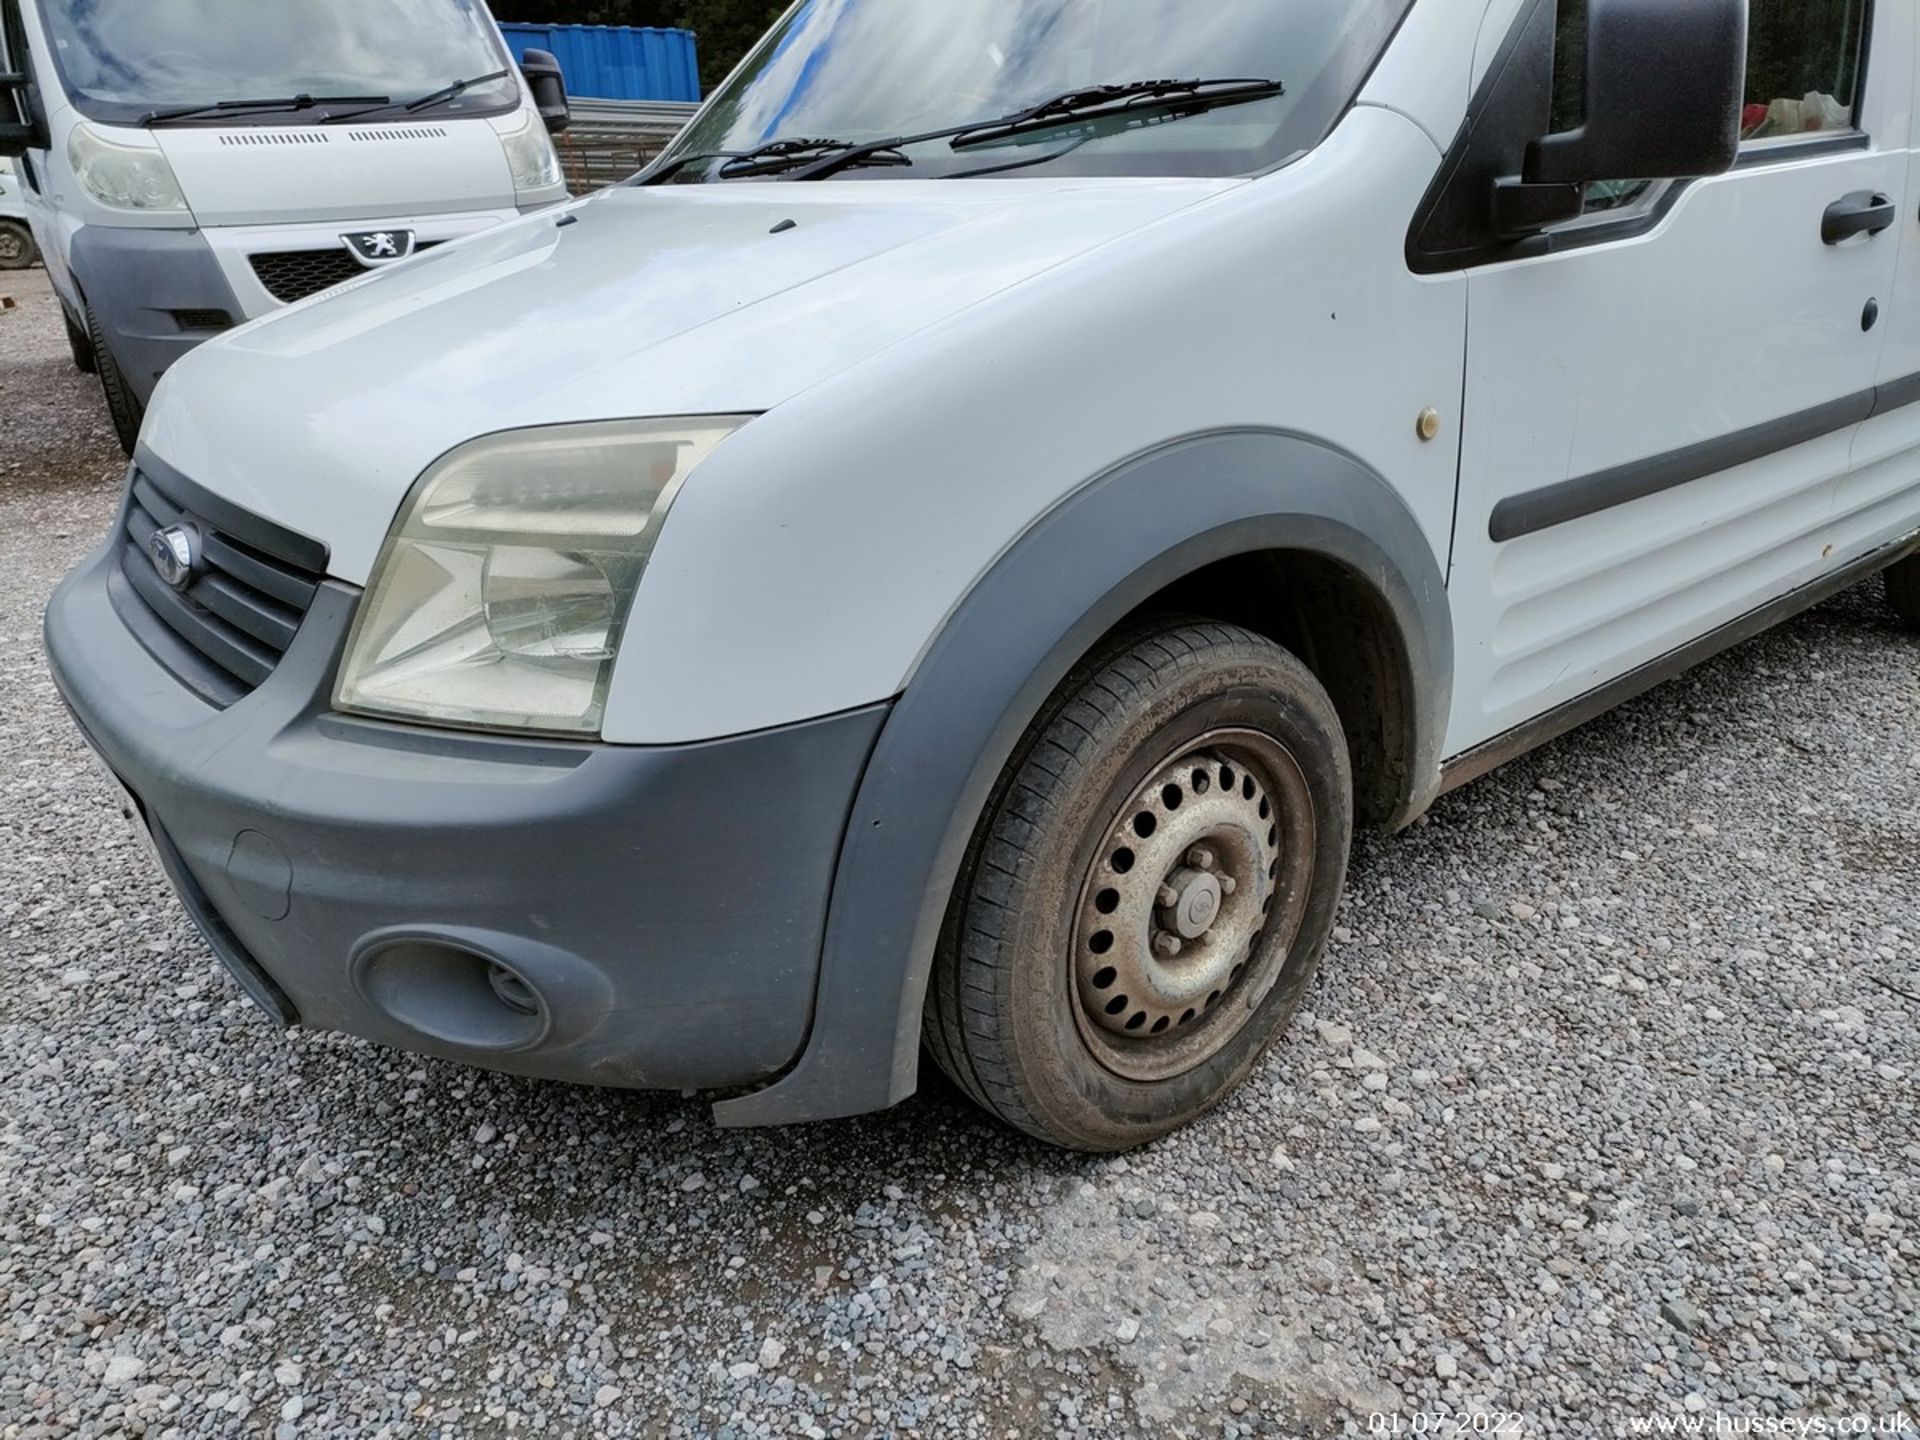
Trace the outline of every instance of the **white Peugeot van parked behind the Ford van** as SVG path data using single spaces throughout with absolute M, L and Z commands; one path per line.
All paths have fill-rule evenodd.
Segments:
M 0 154 L 129 453 L 204 340 L 566 194 L 559 67 L 484 0 L 0 0 Z

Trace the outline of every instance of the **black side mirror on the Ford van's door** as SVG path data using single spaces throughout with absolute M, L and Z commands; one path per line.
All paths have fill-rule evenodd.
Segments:
M 1597 180 L 1692 180 L 1740 157 L 1747 0 L 1588 0 L 1586 123 L 1526 146 L 1503 234 L 1576 219 Z

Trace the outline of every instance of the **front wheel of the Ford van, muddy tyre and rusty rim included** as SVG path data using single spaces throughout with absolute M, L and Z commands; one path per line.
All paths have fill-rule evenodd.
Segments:
M 1354 833 L 1332 701 L 1267 639 L 1116 639 L 1008 764 L 948 906 L 933 1060 L 1071 1150 L 1129 1150 L 1246 1079 L 1308 991 Z

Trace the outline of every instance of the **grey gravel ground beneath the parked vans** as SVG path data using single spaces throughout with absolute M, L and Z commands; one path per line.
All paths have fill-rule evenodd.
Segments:
M 1920 1417 L 1920 639 L 1876 589 L 1367 841 L 1313 1014 L 1144 1154 L 931 1077 L 722 1133 L 250 1010 L 46 678 L 119 459 L 44 278 L 0 290 L 0 1436 Z

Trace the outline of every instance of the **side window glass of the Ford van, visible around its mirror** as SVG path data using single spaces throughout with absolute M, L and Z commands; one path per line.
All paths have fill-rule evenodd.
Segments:
M 1553 129 L 1586 119 L 1586 6 L 1559 0 L 1553 46 Z M 1747 104 L 1741 140 L 1786 140 L 1851 131 L 1872 0 L 1751 0 L 1747 8 Z M 1634 204 L 1653 186 L 1620 180 L 1590 186 L 1590 215 Z

